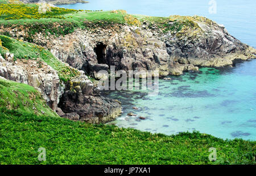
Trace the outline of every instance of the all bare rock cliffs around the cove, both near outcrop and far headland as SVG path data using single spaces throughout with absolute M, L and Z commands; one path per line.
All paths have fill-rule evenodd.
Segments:
M 237 59 L 255 58 L 256 50 L 230 36 L 223 25 L 199 16 L 189 19 L 193 25 L 168 32 L 144 21 L 139 27 L 85 22 L 88 28 L 59 37 L 35 33 L 33 43 L 50 50 L 70 67 L 81 70 L 81 75 L 63 85 L 52 68 L 46 69 L 47 74 L 34 70 L 39 72 L 36 74 L 22 65 L 22 61 L 13 62 L 9 54 L 1 61 L 5 64 L 2 64 L 0 76 L 38 88 L 48 105 L 61 117 L 106 123 L 118 117 L 121 104 L 100 96 L 86 75 L 100 79 L 98 71 L 108 71 L 110 66 L 115 66 L 116 71 L 158 70 L 160 76 L 178 76 L 184 71 L 198 71 L 199 67 L 232 66 Z M 25 40 L 28 33 L 20 28 L 2 26 L 0 32 L 8 31 L 14 38 Z

